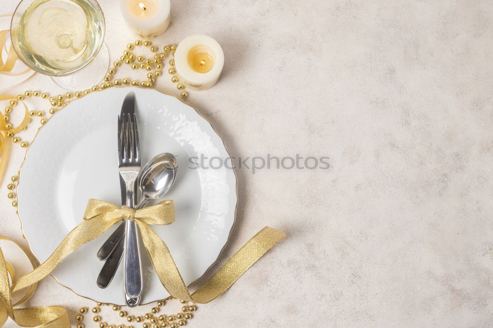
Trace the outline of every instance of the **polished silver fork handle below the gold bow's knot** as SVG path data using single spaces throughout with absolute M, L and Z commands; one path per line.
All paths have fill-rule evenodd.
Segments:
M 125 225 L 125 293 L 129 297 L 138 298 L 142 293 L 139 228 L 134 221 L 130 220 L 127 220 Z

